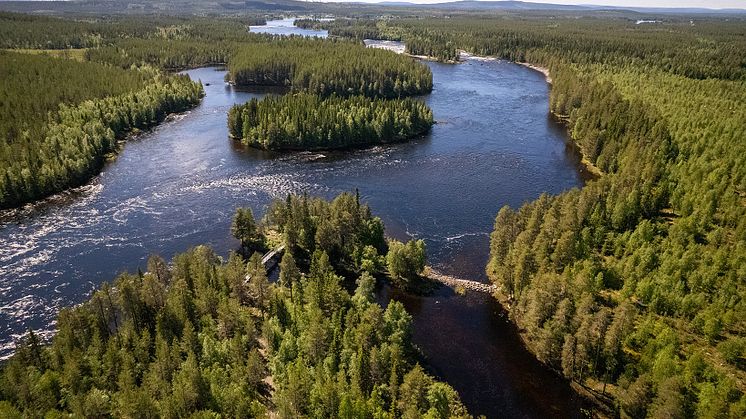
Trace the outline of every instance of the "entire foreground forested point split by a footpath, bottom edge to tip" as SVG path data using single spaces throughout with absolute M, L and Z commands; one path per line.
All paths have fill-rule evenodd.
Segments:
M 301 233 L 286 237 L 279 282 L 258 253 L 151 257 L 63 310 L 50 346 L 27 336 L 3 366 L 0 416 L 469 417 L 417 365 L 402 304 L 374 302 L 371 270 L 353 294 L 343 286 L 348 249 L 385 246 L 367 206 L 289 196 L 269 219 Z

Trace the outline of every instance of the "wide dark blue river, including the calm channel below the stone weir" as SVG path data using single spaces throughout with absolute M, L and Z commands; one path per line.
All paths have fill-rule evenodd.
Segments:
M 503 205 L 580 186 L 578 157 L 548 112 L 544 76 L 504 61 L 427 63 L 423 99 L 437 124 L 424 138 L 367 150 L 273 155 L 228 138 L 226 112 L 260 92 L 238 91 L 214 68 L 188 71 L 203 102 L 130 139 L 88 186 L 0 213 L 0 355 L 28 328 L 51 336 L 61 307 L 117 273 L 197 244 L 227 254 L 238 206 L 263 214 L 288 193 L 333 197 L 358 188 L 399 239 L 421 238 L 429 263 L 486 280 L 489 232 Z M 414 316 L 433 374 L 475 414 L 572 417 L 582 402 L 521 345 L 490 297 L 442 288 L 420 297 L 382 288 Z

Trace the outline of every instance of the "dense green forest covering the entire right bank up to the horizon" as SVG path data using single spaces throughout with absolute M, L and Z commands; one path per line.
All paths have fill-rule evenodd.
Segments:
M 631 417 L 746 415 L 746 41 L 739 19 L 304 22 L 548 67 L 603 175 L 503 208 L 487 268 L 537 357 Z M 374 29 L 377 33 L 374 33 Z

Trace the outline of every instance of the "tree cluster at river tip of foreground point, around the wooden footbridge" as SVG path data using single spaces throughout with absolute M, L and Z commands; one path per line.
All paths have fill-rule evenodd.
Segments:
M 290 195 L 270 206 L 259 228 L 251 210 L 239 208 L 233 226 L 234 236 L 242 243 L 253 244 L 252 250 L 262 249 L 257 238 L 261 229 L 269 228 L 281 233 L 286 251 L 299 265 L 308 266 L 312 256 L 323 251 L 340 272 L 387 277 L 404 289 L 418 285 L 425 268 L 425 243 L 387 240 L 381 219 L 360 202 L 357 191 L 355 195 L 342 193 L 331 202 Z

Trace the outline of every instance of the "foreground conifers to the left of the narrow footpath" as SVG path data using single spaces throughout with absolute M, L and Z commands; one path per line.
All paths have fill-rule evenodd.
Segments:
M 166 269 L 121 275 L 63 310 L 49 347 L 30 335 L 3 367 L 2 399 L 26 417 L 55 409 L 83 417 L 259 414 L 261 387 L 249 374 L 257 320 L 231 295 L 231 278 L 245 268 L 234 272 L 197 247 Z

